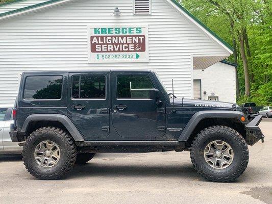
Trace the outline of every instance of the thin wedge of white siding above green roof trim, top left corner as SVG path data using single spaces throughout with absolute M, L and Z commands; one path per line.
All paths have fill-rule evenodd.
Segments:
M 16 9 L 21 9 L 24 7 L 32 6 L 35 4 L 47 2 L 47 1 L 48 0 L 24 0 L 24 1 L 20 1 L 20 2 L 11 3 L 11 4 L 6 4 L 3 6 L 0 6 L 0 14 L 6 13 L 8 11 L 13 11 Z

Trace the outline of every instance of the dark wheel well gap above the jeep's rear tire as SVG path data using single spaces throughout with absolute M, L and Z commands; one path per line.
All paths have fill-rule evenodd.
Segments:
M 62 129 L 64 131 L 66 131 L 67 133 L 69 133 L 69 131 L 66 129 L 66 127 L 59 121 L 39 120 L 39 121 L 31 121 L 28 124 L 28 129 L 26 131 L 26 136 L 28 137 L 32 132 L 36 131 L 37 129 L 39 129 L 41 127 L 47 127 L 47 126 L 59 127 L 60 129 Z

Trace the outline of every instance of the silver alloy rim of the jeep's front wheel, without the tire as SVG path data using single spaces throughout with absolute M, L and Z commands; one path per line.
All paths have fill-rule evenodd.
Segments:
M 225 169 L 231 165 L 234 152 L 227 142 L 215 140 L 205 147 L 204 158 L 212 168 Z

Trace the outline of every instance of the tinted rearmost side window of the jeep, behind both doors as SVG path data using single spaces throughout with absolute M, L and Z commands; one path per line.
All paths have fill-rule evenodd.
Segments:
M 63 77 L 61 75 L 33 76 L 26 78 L 24 99 L 60 99 Z

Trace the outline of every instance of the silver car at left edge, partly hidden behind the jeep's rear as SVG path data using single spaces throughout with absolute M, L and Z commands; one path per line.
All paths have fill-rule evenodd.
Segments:
M 12 142 L 9 135 L 10 124 L 13 123 L 12 109 L 12 107 L 0 106 L 0 155 L 21 154 L 22 147 Z

